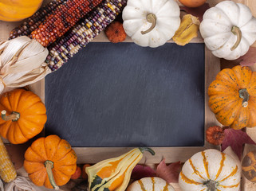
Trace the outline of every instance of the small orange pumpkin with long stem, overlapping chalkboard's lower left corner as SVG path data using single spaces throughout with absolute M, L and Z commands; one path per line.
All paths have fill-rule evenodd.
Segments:
M 38 138 L 26 150 L 24 168 L 35 185 L 58 189 L 77 169 L 77 154 L 57 135 Z

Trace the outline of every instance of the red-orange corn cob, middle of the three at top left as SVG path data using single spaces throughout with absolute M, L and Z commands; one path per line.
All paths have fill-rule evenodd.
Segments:
M 41 45 L 47 47 L 56 41 L 57 37 L 64 35 L 73 27 L 81 18 L 85 17 L 89 11 L 98 6 L 102 0 L 68 0 L 61 6 L 58 6 L 51 15 L 31 36 L 35 38 Z

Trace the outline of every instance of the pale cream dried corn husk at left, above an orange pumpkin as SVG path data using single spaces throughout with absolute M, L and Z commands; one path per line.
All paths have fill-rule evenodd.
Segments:
M 44 78 L 50 71 L 44 63 L 48 50 L 29 37 L 0 42 L 0 93 Z

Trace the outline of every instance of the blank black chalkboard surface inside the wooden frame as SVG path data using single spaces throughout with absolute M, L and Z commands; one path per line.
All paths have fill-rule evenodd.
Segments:
M 204 45 L 90 43 L 45 78 L 46 134 L 72 146 L 203 146 Z

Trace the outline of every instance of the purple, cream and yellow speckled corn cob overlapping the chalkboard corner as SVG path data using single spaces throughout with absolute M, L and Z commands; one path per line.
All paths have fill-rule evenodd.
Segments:
M 52 71 L 61 68 L 65 62 L 114 21 L 126 3 L 127 0 L 105 0 L 85 19 L 82 19 L 83 21 L 77 23 L 69 33 L 66 33 L 59 41 L 49 46 L 49 55 L 45 63 Z

